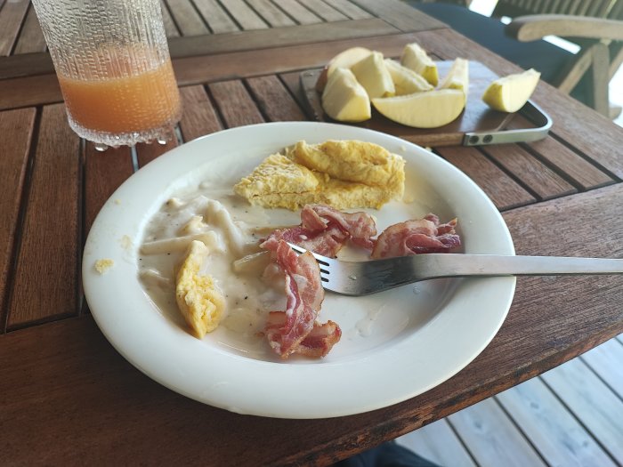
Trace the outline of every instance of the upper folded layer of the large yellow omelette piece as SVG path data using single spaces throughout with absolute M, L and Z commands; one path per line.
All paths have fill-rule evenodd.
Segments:
M 287 157 L 313 171 L 327 173 L 332 179 L 384 187 L 390 199 L 404 194 L 405 160 L 372 142 L 298 141 L 287 151 Z

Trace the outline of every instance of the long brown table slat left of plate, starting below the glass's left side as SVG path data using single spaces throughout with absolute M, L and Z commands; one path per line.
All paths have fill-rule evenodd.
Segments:
M 79 155 L 79 139 L 69 128 L 65 107 L 44 107 L 9 302 L 9 328 L 78 311 Z

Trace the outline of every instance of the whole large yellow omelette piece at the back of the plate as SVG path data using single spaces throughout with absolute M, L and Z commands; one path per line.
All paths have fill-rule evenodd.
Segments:
M 234 191 L 253 205 L 298 209 L 310 203 L 380 208 L 404 193 L 402 157 L 369 142 L 299 141 L 286 155 L 273 154 Z

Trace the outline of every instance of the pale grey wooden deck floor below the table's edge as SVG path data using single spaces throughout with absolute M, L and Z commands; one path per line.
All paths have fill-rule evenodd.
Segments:
M 398 442 L 441 466 L 623 465 L 623 334 Z

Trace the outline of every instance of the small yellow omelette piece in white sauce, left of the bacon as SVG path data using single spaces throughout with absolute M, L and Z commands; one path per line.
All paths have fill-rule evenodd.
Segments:
M 214 284 L 214 278 L 199 274 L 208 254 L 209 249 L 203 242 L 193 240 L 175 279 L 177 306 L 198 339 L 214 331 L 225 310 L 225 299 Z

